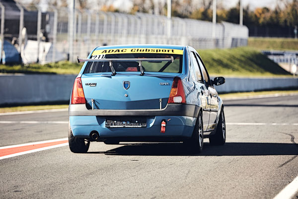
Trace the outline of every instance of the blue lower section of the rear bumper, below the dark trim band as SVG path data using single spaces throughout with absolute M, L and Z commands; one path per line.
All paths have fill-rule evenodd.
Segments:
M 100 139 L 115 138 L 119 140 L 153 141 L 150 138 L 171 140 L 175 138 L 191 137 L 196 117 L 189 116 L 149 116 L 144 128 L 107 128 L 105 116 L 70 116 L 70 124 L 74 136 L 89 138 L 91 131 L 97 131 Z M 161 121 L 168 120 L 165 133 L 160 133 Z M 170 119 L 170 120 L 169 120 Z M 143 138 L 143 139 L 142 139 Z M 156 139 L 158 141 L 158 139 Z

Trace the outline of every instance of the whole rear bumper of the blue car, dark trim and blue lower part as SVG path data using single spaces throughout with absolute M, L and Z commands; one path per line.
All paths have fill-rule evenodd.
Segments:
M 167 104 L 163 109 L 142 110 L 89 110 L 85 104 L 71 104 L 69 106 L 70 124 L 74 136 L 89 138 L 91 131 L 97 131 L 100 139 L 117 138 L 119 140 L 135 140 L 141 138 L 150 141 L 150 138 L 191 137 L 200 107 L 192 104 Z M 147 126 L 143 128 L 107 128 L 107 116 L 146 117 Z M 160 133 L 161 121 L 166 120 L 165 133 Z M 167 139 L 171 138 L 171 139 Z

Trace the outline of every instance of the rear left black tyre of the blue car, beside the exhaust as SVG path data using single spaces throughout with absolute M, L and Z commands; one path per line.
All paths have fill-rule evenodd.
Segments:
M 69 146 L 73 153 L 87 153 L 90 141 L 80 137 L 74 137 L 73 131 L 69 125 Z

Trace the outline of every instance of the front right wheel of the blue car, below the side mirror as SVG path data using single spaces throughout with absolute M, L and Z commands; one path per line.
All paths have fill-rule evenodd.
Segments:
M 225 136 L 226 136 L 226 130 L 225 130 L 224 108 L 222 108 L 216 133 L 209 137 L 209 142 L 212 145 L 223 145 L 225 143 Z

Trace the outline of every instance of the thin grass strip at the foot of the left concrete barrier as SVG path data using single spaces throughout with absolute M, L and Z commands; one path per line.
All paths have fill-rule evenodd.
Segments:
M 45 110 L 45 109 L 68 108 L 68 107 L 69 107 L 69 104 L 24 105 L 24 106 L 0 107 L 0 112 L 16 112 L 16 111 L 26 111 L 26 110 Z

